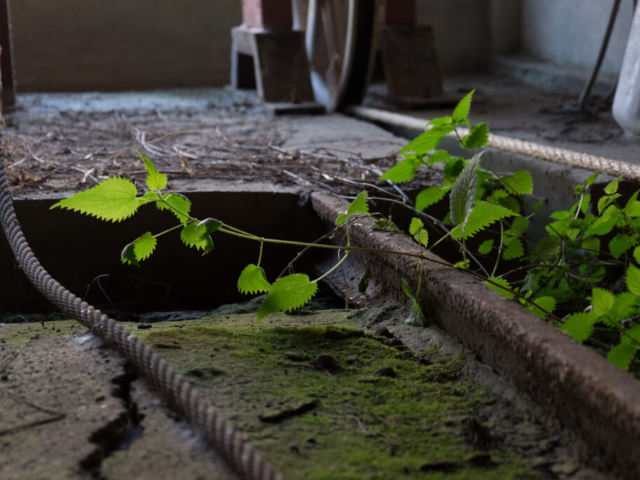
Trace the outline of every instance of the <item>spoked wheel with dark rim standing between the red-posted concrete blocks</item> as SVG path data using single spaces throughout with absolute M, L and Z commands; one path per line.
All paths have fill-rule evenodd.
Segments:
M 373 64 L 378 0 L 295 0 L 294 7 L 316 101 L 329 111 L 359 104 Z

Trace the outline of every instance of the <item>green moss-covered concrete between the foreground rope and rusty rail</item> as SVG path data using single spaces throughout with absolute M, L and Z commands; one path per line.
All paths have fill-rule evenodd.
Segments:
M 330 315 L 339 325 L 240 315 L 139 336 L 286 478 L 536 478 L 482 425 L 490 399 L 458 378 L 462 357 L 419 359 Z

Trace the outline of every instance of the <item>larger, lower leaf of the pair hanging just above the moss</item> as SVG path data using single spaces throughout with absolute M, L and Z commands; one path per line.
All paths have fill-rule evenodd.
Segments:
M 258 320 L 267 315 L 301 307 L 318 291 L 318 284 L 307 275 L 293 273 L 274 282 L 271 291 L 258 310 Z

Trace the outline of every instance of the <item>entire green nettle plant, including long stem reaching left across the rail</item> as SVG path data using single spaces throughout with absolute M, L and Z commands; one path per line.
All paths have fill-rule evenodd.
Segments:
M 411 206 L 416 216 L 411 220 L 408 234 L 382 215 L 370 214 L 366 191 L 355 197 L 347 210 L 337 217 L 334 231 L 325 236 L 341 234 L 340 245 L 269 239 L 214 218 L 197 219 L 190 214 L 191 202 L 184 195 L 166 192 L 166 175 L 140 154 L 147 172 L 147 191 L 143 195 L 137 195 L 133 182 L 116 177 L 66 198 L 52 208 L 67 208 L 112 222 L 131 217 L 146 204 L 154 204 L 175 215 L 178 224 L 173 228 L 155 234 L 146 232 L 124 247 L 122 261 L 136 266 L 153 253 L 158 237 L 174 230 L 180 231 L 185 245 L 203 254 L 213 250 L 213 234 L 258 242 L 257 262 L 247 265 L 238 279 L 241 293 L 267 294 L 258 311 L 258 320 L 276 312 L 295 310 L 307 303 L 316 294 L 318 282 L 339 268 L 352 251 L 378 252 L 352 246 L 349 237 L 354 220 L 375 215 L 374 229 L 409 236 L 419 246 L 417 254 L 395 252 L 420 262 L 415 293 L 408 282 L 403 281 L 404 291 L 411 300 L 407 323 L 428 324 L 417 298 L 424 263 L 434 262 L 458 268 L 484 281 L 489 288 L 519 302 L 575 340 L 606 352 L 611 362 L 628 369 L 640 350 L 640 268 L 636 266 L 640 264 L 640 191 L 621 203 L 620 178 L 613 180 L 599 199 L 596 214 L 592 211 L 591 194 L 588 193 L 597 178 L 592 175 L 584 185 L 576 187 L 576 203 L 571 208 L 553 213 L 550 219 L 542 218 L 539 213 L 542 202 L 535 205 L 528 202 L 527 196 L 533 193 L 533 180 L 528 171 L 500 175 L 482 162 L 481 149 L 488 146 L 489 128 L 486 123 L 470 126 L 468 117 L 473 93 L 460 101 L 450 117 L 430 121 L 428 130 L 400 151 L 402 160 L 380 177 L 399 184 L 413 180 L 419 169 L 427 169 L 442 178 L 442 185 L 428 187 L 416 197 L 415 206 Z M 464 137 L 458 135 L 461 125 L 470 127 Z M 467 158 L 454 157 L 446 150 L 438 149 L 442 139 L 450 134 L 457 138 Z M 449 209 L 444 218 L 440 220 L 424 212 L 447 196 Z M 525 234 L 534 216 L 546 223 L 547 236 L 530 246 Z M 441 231 L 444 235 L 430 242 L 429 231 L 432 234 Z M 468 242 L 478 235 L 483 235 L 481 240 L 489 238 L 472 252 Z M 609 241 L 607 249 L 601 248 L 604 239 Z M 454 265 L 426 255 L 444 241 L 459 246 L 461 258 Z M 270 283 L 260 266 L 265 243 L 334 249 L 344 254 L 315 280 L 305 274 L 292 273 Z M 504 265 L 505 261 L 515 259 L 521 259 L 521 266 L 502 272 L 501 261 Z M 621 282 L 612 280 L 622 272 L 626 272 L 626 290 Z M 370 272 L 365 271 L 359 285 L 361 291 L 366 290 L 368 278 Z

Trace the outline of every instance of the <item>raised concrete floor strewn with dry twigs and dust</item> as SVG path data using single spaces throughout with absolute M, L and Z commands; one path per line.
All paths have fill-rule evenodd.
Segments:
M 110 176 L 142 181 L 136 150 L 174 180 L 354 191 L 375 183 L 404 144 L 340 115 L 273 117 L 254 96 L 226 90 L 140 93 L 136 101 L 30 94 L 5 125 L 7 173 L 19 195 L 84 189 Z

